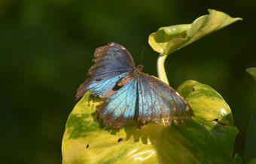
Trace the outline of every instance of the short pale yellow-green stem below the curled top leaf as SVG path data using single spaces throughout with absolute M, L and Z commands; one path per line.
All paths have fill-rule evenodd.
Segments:
M 160 80 L 165 82 L 167 85 L 169 85 L 167 76 L 166 76 L 166 70 L 164 69 L 164 61 L 166 60 L 167 55 L 160 53 L 157 59 L 157 75 Z

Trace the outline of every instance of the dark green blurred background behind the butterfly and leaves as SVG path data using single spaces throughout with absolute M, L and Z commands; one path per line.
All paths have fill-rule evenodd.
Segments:
M 145 73 L 157 76 L 148 36 L 221 10 L 243 21 L 178 50 L 166 60 L 170 85 L 194 79 L 212 86 L 233 111 L 243 157 L 248 121 L 256 110 L 256 1 L 1 0 L 0 163 L 61 163 L 66 120 L 96 47 L 125 46 Z M 145 47 L 145 52 L 142 50 Z M 220 148 L 221 153 L 221 148 Z

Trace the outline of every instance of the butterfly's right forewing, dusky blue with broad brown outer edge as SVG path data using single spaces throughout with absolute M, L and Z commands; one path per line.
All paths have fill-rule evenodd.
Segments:
M 166 83 L 146 73 L 140 73 L 138 79 L 139 120 L 166 125 L 172 120 L 191 118 L 194 112 L 184 98 Z

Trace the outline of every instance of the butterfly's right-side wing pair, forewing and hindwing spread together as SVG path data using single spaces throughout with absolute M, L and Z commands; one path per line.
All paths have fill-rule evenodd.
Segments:
M 169 85 L 145 73 L 139 73 L 97 109 L 105 125 L 121 128 L 131 120 L 166 125 L 172 120 L 194 115 L 184 98 Z

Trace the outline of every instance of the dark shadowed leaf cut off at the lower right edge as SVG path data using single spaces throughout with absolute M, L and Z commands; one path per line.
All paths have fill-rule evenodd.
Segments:
M 251 118 L 245 143 L 245 163 L 256 163 L 256 112 Z

